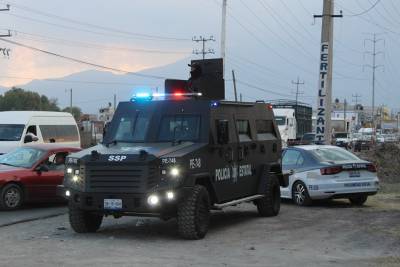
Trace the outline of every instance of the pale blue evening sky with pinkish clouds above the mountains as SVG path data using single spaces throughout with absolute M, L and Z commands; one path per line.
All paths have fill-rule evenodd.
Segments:
M 228 0 L 226 80 L 235 70 L 245 100 L 294 98 L 315 105 L 322 0 Z M 336 0 L 333 97 L 371 105 L 371 39 L 376 43 L 376 105 L 400 108 L 400 1 Z M 220 56 L 222 0 L 0 0 L 0 34 L 14 42 L 113 68 L 141 71 L 198 58 L 196 36 Z M 368 11 L 368 12 L 366 12 Z M 0 54 L 0 85 L 94 69 L 14 44 Z M 162 73 L 160 73 L 162 76 Z M 232 93 L 227 93 L 232 98 Z M 68 96 L 66 95 L 65 98 Z M 66 101 L 60 99 L 60 102 Z

